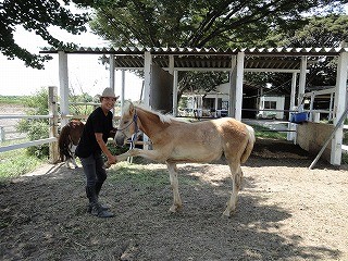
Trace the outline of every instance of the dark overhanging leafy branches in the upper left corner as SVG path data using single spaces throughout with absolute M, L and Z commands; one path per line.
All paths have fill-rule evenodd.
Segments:
M 15 57 L 23 60 L 27 66 L 44 69 L 44 63 L 51 58 L 30 53 L 20 47 L 13 37 L 16 26 L 22 25 L 28 32 L 35 32 L 50 46 L 55 48 L 72 48 L 75 45 L 64 44 L 49 33 L 50 26 L 59 26 L 72 34 L 86 30 L 85 24 L 89 21 L 87 13 L 73 14 L 60 4 L 59 0 L 30 0 L 0 2 L 0 51 L 9 59 Z M 79 3 L 79 1 L 74 1 Z M 86 1 L 84 1 L 86 2 Z M 72 3 L 64 0 L 65 4 Z

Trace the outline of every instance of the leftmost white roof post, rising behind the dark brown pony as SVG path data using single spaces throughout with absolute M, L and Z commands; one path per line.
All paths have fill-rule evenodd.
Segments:
M 59 57 L 59 90 L 60 90 L 60 108 L 61 108 L 61 126 L 65 126 L 69 122 L 66 115 L 69 112 L 69 74 L 67 74 L 67 54 L 64 51 L 58 52 Z

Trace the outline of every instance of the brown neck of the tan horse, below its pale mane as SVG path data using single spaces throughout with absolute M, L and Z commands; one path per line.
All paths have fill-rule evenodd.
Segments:
M 148 137 L 151 137 L 153 134 L 161 132 L 164 128 L 164 123 L 160 117 L 151 112 L 137 110 L 139 117 L 139 129 L 144 132 Z

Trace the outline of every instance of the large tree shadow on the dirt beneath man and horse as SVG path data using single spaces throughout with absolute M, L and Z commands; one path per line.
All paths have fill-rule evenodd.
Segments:
M 284 148 L 284 147 L 283 147 Z M 310 159 L 262 158 L 273 147 L 256 147 L 248 167 L 306 164 Z M 260 152 L 261 151 L 261 152 Z M 260 152 L 260 154 L 258 154 Z M 276 153 L 276 152 L 275 152 Z M 291 153 L 295 153 L 291 151 Z M 278 154 L 279 156 L 279 154 Z M 294 163 L 294 161 L 296 161 Z M 281 162 L 281 163 L 279 163 Z M 202 182 L 181 170 L 182 212 L 167 212 L 172 192 L 162 164 L 113 167 L 102 200 L 115 216 L 101 220 L 86 213 L 80 169 L 63 165 L 21 177 L 0 187 L 1 260 L 338 260 L 330 247 L 302 244 L 297 234 L 286 236 L 282 224 L 291 212 L 264 204 L 246 178 L 237 213 L 222 216 L 231 182 Z M 214 167 L 209 169 L 213 170 Z M 135 178 L 138 175 L 139 178 Z M 146 178 L 142 176 L 146 175 Z

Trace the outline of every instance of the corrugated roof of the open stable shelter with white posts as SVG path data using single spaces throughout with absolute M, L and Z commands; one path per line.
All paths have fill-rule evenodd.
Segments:
M 58 53 L 61 49 L 44 48 L 40 53 Z M 245 53 L 245 69 L 299 70 L 300 57 L 336 57 L 348 52 L 348 48 L 146 48 L 146 47 L 78 47 L 65 49 L 66 53 L 115 54 L 119 69 L 144 67 L 144 53 L 151 52 L 153 61 L 161 67 L 169 67 L 169 55 L 175 55 L 176 69 L 231 69 L 232 55 Z

